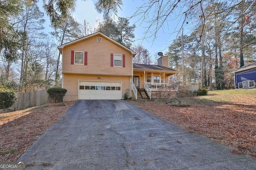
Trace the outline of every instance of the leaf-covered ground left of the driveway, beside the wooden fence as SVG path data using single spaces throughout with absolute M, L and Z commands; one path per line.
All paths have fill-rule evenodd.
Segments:
M 0 113 L 0 161 L 16 161 L 74 102 Z

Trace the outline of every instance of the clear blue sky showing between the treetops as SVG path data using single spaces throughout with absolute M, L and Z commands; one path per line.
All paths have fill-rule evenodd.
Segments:
M 97 24 L 96 20 L 100 19 L 103 21 L 103 14 L 99 14 L 94 6 L 96 0 L 76 0 L 76 7 L 75 11 L 73 12 L 73 17 L 76 21 L 82 23 L 84 20 L 89 22 L 89 25 L 94 26 Z M 125 17 L 128 18 L 132 16 L 138 7 L 141 6 L 142 3 L 147 2 L 142 0 L 123 0 L 123 6 L 121 6 L 122 10 L 118 10 L 118 17 Z M 42 1 L 38 4 L 39 8 L 42 12 Z M 117 16 L 115 17 L 117 19 Z M 50 21 L 48 16 L 46 16 L 46 23 L 44 24 L 45 31 L 50 32 L 52 29 L 50 28 Z M 130 25 L 136 25 L 134 30 L 135 35 L 135 45 L 142 45 L 146 48 L 151 55 L 155 55 L 158 52 L 166 53 L 168 51 L 168 46 L 173 42 L 176 38 L 177 33 L 173 33 L 175 31 L 176 26 L 179 24 L 177 21 L 169 22 L 168 25 L 164 25 L 163 29 L 160 29 L 156 35 L 156 38 L 146 38 L 144 39 L 145 32 L 146 32 L 146 23 L 139 20 L 139 18 L 131 18 Z

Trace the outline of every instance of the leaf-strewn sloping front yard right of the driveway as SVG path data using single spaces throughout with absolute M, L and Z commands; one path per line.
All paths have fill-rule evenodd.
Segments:
M 131 101 L 145 111 L 190 132 L 232 147 L 235 154 L 256 158 L 256 89 L 209 91 L 207 96 Z M 176 105 L 176 106 L 175 106 Z

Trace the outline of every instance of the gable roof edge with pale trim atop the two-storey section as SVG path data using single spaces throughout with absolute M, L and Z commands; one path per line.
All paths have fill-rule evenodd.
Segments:
M 69 45 L 72 45 L 72 44 L 75 44 L 75 43 L 78 43 L 80 41 L 83 41 L 85 39 L 88 39 L 88 38 L 91 38 L 91 37 L 94 37 L 96 35 L 101 35 L 102 37 L 108 39 L 109 41 L 111 41 L 112 43 L 118 45 L 119 47 L 122 47 L 123 49 L 127 50 L 127 51 L 130 51 L 130 53 L 132 54 L 132 57 L 134 57 L 136 55 L 136 53 L 134 51 L 132 51 L 131 49 L 128 49 L 127 47 L 125 47 L 124 45 L 118 43 L 117 41 L 115 41 L 114 39 L 106 36 L 105 34 L 101 33 L 101 32 L 96 32 L 96 33 L 93 33 L 93 34 L 90 34 L 90 35 L 87 35 L 85 37 L 82 37 L 82 38 L 79 38 L 79 39 L 76 39 L 74 41 L 70 41 L 66 44 L 62 44 L 60 46 L 58 46 L 57 48 L 59 49 L 60 53 L 62 53 L 62 49 L 64 49 L 64 47 L 66 46 L 69 46 Z

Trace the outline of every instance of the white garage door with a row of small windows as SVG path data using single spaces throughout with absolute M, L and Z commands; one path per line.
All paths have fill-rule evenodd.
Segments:
M 122 99 L 121 82 L 78 81 L 78 99 Z

